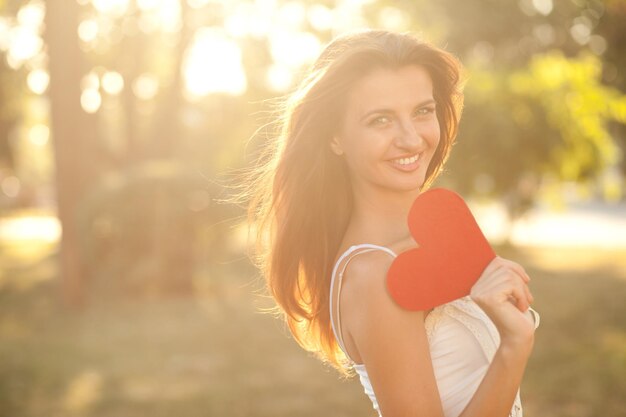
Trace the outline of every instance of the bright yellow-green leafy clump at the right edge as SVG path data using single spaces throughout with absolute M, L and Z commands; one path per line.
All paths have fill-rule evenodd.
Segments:
M 548 125 L 559 132 L 547 162 L 563 180 L 588 179 L 618 161 L 608 125 L 626 122 L 626 95 L 603 85 L 601 70 L 594 55 L 568 59 L 552 52 L 509 77 L 511 91 L 539 103 Z

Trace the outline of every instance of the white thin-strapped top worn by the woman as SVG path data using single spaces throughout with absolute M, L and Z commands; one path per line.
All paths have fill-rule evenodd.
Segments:
M 396 257 L 391 249 L 371 244 L 352 246 L 342 254 L 333 269 L 329 304 L 330 321 L 335 338 L 359 375 L 365 394 L 372 400 L 374 409 L 382 417 L 365 365 L 355 363 L 346 351 L 339 316 L 341 284 L 347 265 L 354 256 L 375 250 L 382 250 Z M 341 272 L 336 276 L 340 266 Z M 337 287 L 335 287 L 335 282 L 337 282 Z M 333 302 L 333 300 L 336 301 Z M 539 315 L 532 309 L 530 311 L 537 327 Z M 493 322 L 469 296 L 434 308 L 426 316 L 424 325 L 444 415 L 458 417 L 487 373 L 489 364 L 500 344 L 500 335 Z M 519 390 L 510 417 L 522 417 Z

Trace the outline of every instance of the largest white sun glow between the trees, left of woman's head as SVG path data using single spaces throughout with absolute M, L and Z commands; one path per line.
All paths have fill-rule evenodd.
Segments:
M 241 95 L 246 91 L 241 49 L 223 31 L 198 30 L 183 65 L 185 92 L 190 100 L 211 93 Z

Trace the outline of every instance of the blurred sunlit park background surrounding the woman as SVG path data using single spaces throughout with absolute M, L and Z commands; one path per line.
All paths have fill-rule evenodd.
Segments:
M 0 0 L 0 416 L 373 416 L 221 202 L 333 36 L 466 65 L 438 181 L 542 314 L 526 415 L 626 415 L 626 1 Z

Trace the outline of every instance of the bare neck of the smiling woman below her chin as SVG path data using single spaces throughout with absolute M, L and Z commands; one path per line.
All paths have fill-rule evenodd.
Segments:
M 368 187 L 354 192 L 346 237 L 354 243 L 389 246 L 410 236 L 407 218 L 419 190 L 398 192 Z

